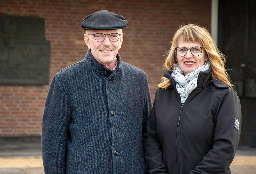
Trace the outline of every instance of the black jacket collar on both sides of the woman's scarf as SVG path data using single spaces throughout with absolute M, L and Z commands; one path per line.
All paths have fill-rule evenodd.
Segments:
M 176 83 L 171 76 L 172 73 L 173 71 L 166 70 L 163 77 L 170 79 L 170 81 L 172 82 L 172 86 L 176 88 Z M 210 79 L 211 79 L 211 67 L 208 70 L 199 73 L 196 88 L 204 87 L 207 83 L 209 83 Z

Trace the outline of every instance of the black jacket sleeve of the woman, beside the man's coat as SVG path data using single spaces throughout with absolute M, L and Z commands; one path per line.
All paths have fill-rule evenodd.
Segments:
M 143 135 L 144 154 L 148 173 L 167 174 L 167 168 L 163 163 L 162 146 L 157 133 L 155 102 L 156 100 L 154 100 L 153 108 L 147 121 L 146 131 Z

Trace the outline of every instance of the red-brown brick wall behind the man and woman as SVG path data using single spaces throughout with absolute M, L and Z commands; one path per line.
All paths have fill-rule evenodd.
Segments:
M 123 15 L 121 58 L 145 71 L 152 101 L 164 71 L 162 62 L 181 24 L 210 27 L 211 0 L 1 0 L 0 13 L 45 19 L 51 44 L 50 77 L 83 59 L 87 47 L 80 23 L 88 14 L 109 10 Z M 42 114 L 49 85 L 0 86 L 0 136 L 41 135 Z

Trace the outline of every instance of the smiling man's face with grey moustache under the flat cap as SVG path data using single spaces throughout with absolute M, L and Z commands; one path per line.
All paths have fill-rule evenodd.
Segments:
M 94 35 L 88 34 L 96 34 L 103 33 L 106 35 L 105 40 L 102 42 L 98 42 L 95 40 Z M 115 67 L 115 58 L 118 53 L 118 50 L 121 48 L 123 41 L 123 34 L 120 35 L 118 41 L 112 42 L 109 40 L 109 34 L 111 33 L 122 33 L 122 30 L 87 30 L 87 34 L 84 35 L 84 41 L 88 48 L 91 50 L 93 57 L 102 65 L 107 68 Z M 112 67 L 113 66 L 113 67 Z

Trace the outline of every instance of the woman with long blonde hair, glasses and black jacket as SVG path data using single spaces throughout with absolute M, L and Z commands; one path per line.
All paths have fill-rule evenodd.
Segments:
M 178 28 L 164 63 L 146 132 L 148 173 L 230 174 L 241 106 L 208 30 Z

